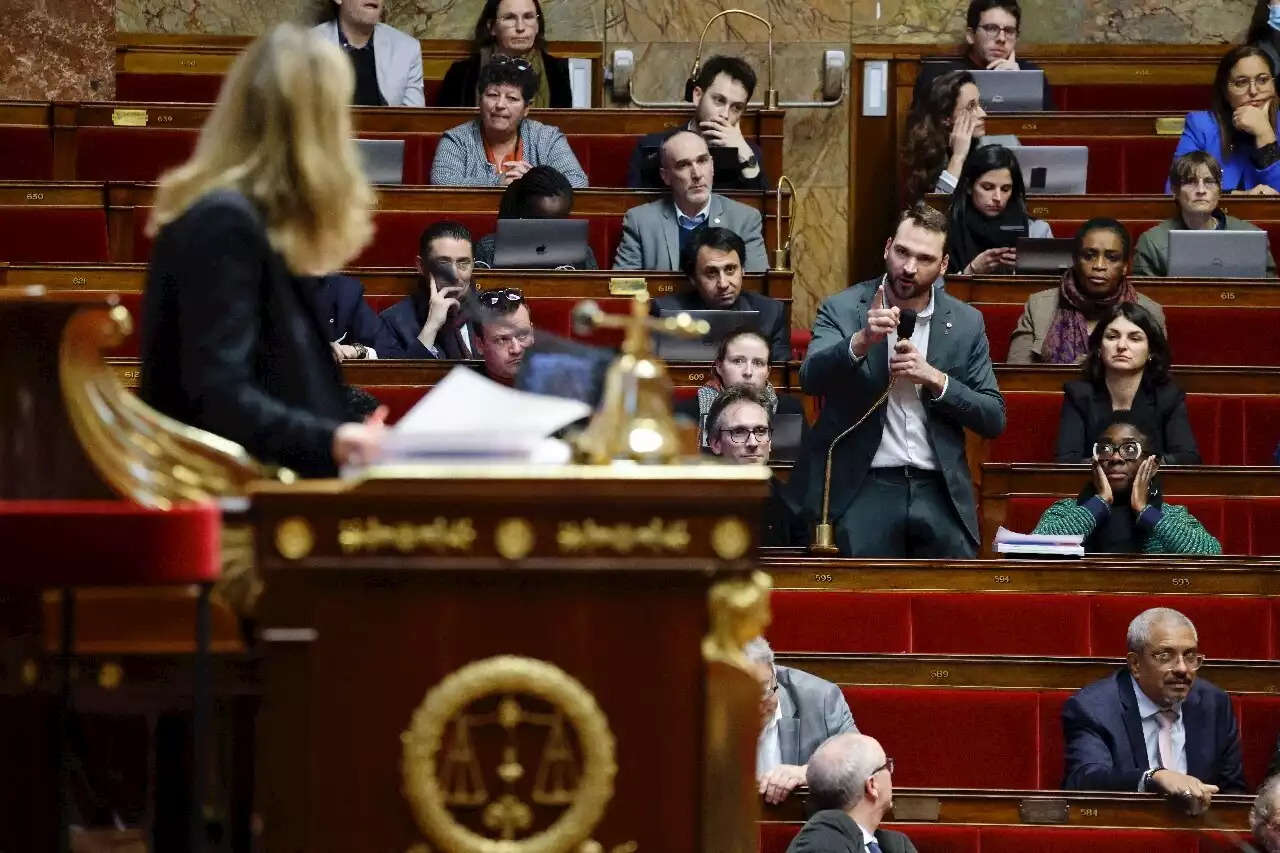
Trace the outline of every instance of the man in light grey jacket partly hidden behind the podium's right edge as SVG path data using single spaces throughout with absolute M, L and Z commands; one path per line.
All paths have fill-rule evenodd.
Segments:
M 809 756 L 822 742 L 858 731 L 858 726 L 838 686 L 817 675 L 777 666 L 763 637 L 748 643 L 745 651 L 760 681 L 755 777 L 764 800 L 777 804 L 805 784 Z

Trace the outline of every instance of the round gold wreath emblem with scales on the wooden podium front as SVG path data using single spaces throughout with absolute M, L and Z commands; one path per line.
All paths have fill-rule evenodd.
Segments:
M 452 672 L 401 742 L 404 795 L 449 853 L 588 849 L 613 798 L 609 722 L 581 683 L 545 661 L 490 657 Z M 557 812 L 530 834 L 535 817 Z

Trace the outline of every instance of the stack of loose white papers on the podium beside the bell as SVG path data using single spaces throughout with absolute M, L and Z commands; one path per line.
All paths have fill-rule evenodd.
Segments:
M 381 461 L 530 459 L 554 432 L 590 414 L 577 400 L 516 391 L 458 366 L 390 429 Z

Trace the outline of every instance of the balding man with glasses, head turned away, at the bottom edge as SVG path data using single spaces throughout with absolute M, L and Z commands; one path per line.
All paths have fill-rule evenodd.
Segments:
M 809 797 L 819 811 L 787 853 L 915 853 L 911 839 L 879 827 L 893 808 L 893 760 L 874 738 L 850 731 L 818 747 Z

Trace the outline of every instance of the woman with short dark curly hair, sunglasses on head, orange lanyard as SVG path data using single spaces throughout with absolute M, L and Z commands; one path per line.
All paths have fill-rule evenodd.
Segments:
M 495 56 L 480 69 L 480 114 L 445 131 L 435 147 L 433 184 L 506 187 L 547 165 L 572 186 L 586 186 L 586 173 L 559 128 L 526 118 L 538 90 L 538 72 L 529 63 Z

